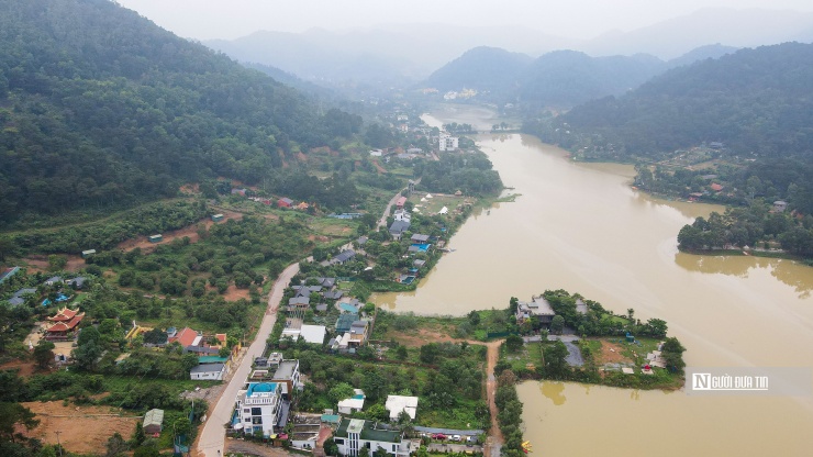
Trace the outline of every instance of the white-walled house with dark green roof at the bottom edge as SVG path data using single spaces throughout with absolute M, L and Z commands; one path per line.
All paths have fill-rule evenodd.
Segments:
M 367 448 L 370 455 L 379 448 L 394 457 L 410 455 L 410 442 L 403 439 L 403 433 L 360 419 L 343 419 L 333 441 L 344 456 L 357 457 L 363 448 Z

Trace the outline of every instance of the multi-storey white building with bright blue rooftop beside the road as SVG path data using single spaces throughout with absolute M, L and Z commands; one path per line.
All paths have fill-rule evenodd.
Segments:
M 235 430 L 246 435 L 261 432 L 263 436 L 272 435 L 276 430 L 285 427 L 288 422 L 288 409 L 282 404 L 282 388 L 278 382 L 249 382 L 237 392 L 237 415 L 240 423 Z

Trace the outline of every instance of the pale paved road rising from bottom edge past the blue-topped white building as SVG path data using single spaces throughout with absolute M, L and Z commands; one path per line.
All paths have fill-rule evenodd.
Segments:
M 274 282 L 271 293 L 268 296 L 268 309 L 257 331 L 257 336 L 248 347 L 241 364 L 235 368 L 232 380 L 223 389 L 218 403 L 214 408 L 210 408 L 209 419 L 203 424 L 203 428 L 194 445 L 193 455 L 198 457 L 219 457 L 222 455 L 223 443 L 226 436 L 224 424 L 229 423 L 232 419 L 237 391 L 245 383 L 254 358 L 259 357 L 263 350 L 265 350 L 266 339 L 268 339 L 268 335 L 270 335 L 271 328 L 274 328 L 274 323 L 277 321 L 277 309 L 279 308 L 279 302 L 282 300 L 282 292 L 297 272 L 299 272 L 299 264 L 292 264 Z

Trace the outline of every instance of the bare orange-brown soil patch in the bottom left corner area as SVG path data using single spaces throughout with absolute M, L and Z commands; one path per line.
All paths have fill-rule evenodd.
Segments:
M 22 403 L 36 414 L 40 425 L 27 435 L 44 443 L 59 443 L 69 452 L 77 454 L 103 455 L 104 445 L 113 433 L 119 432 L 130 438 L 137 416 L 122 415 L 121 410 L 107 406 L 64 406 L 59 401 Z

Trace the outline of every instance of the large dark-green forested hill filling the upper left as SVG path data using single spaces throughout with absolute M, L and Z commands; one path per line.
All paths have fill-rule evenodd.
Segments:
M 203 177 L 255 182 L 360 123 L 107 0 L 0 11 L 0 226 Z

